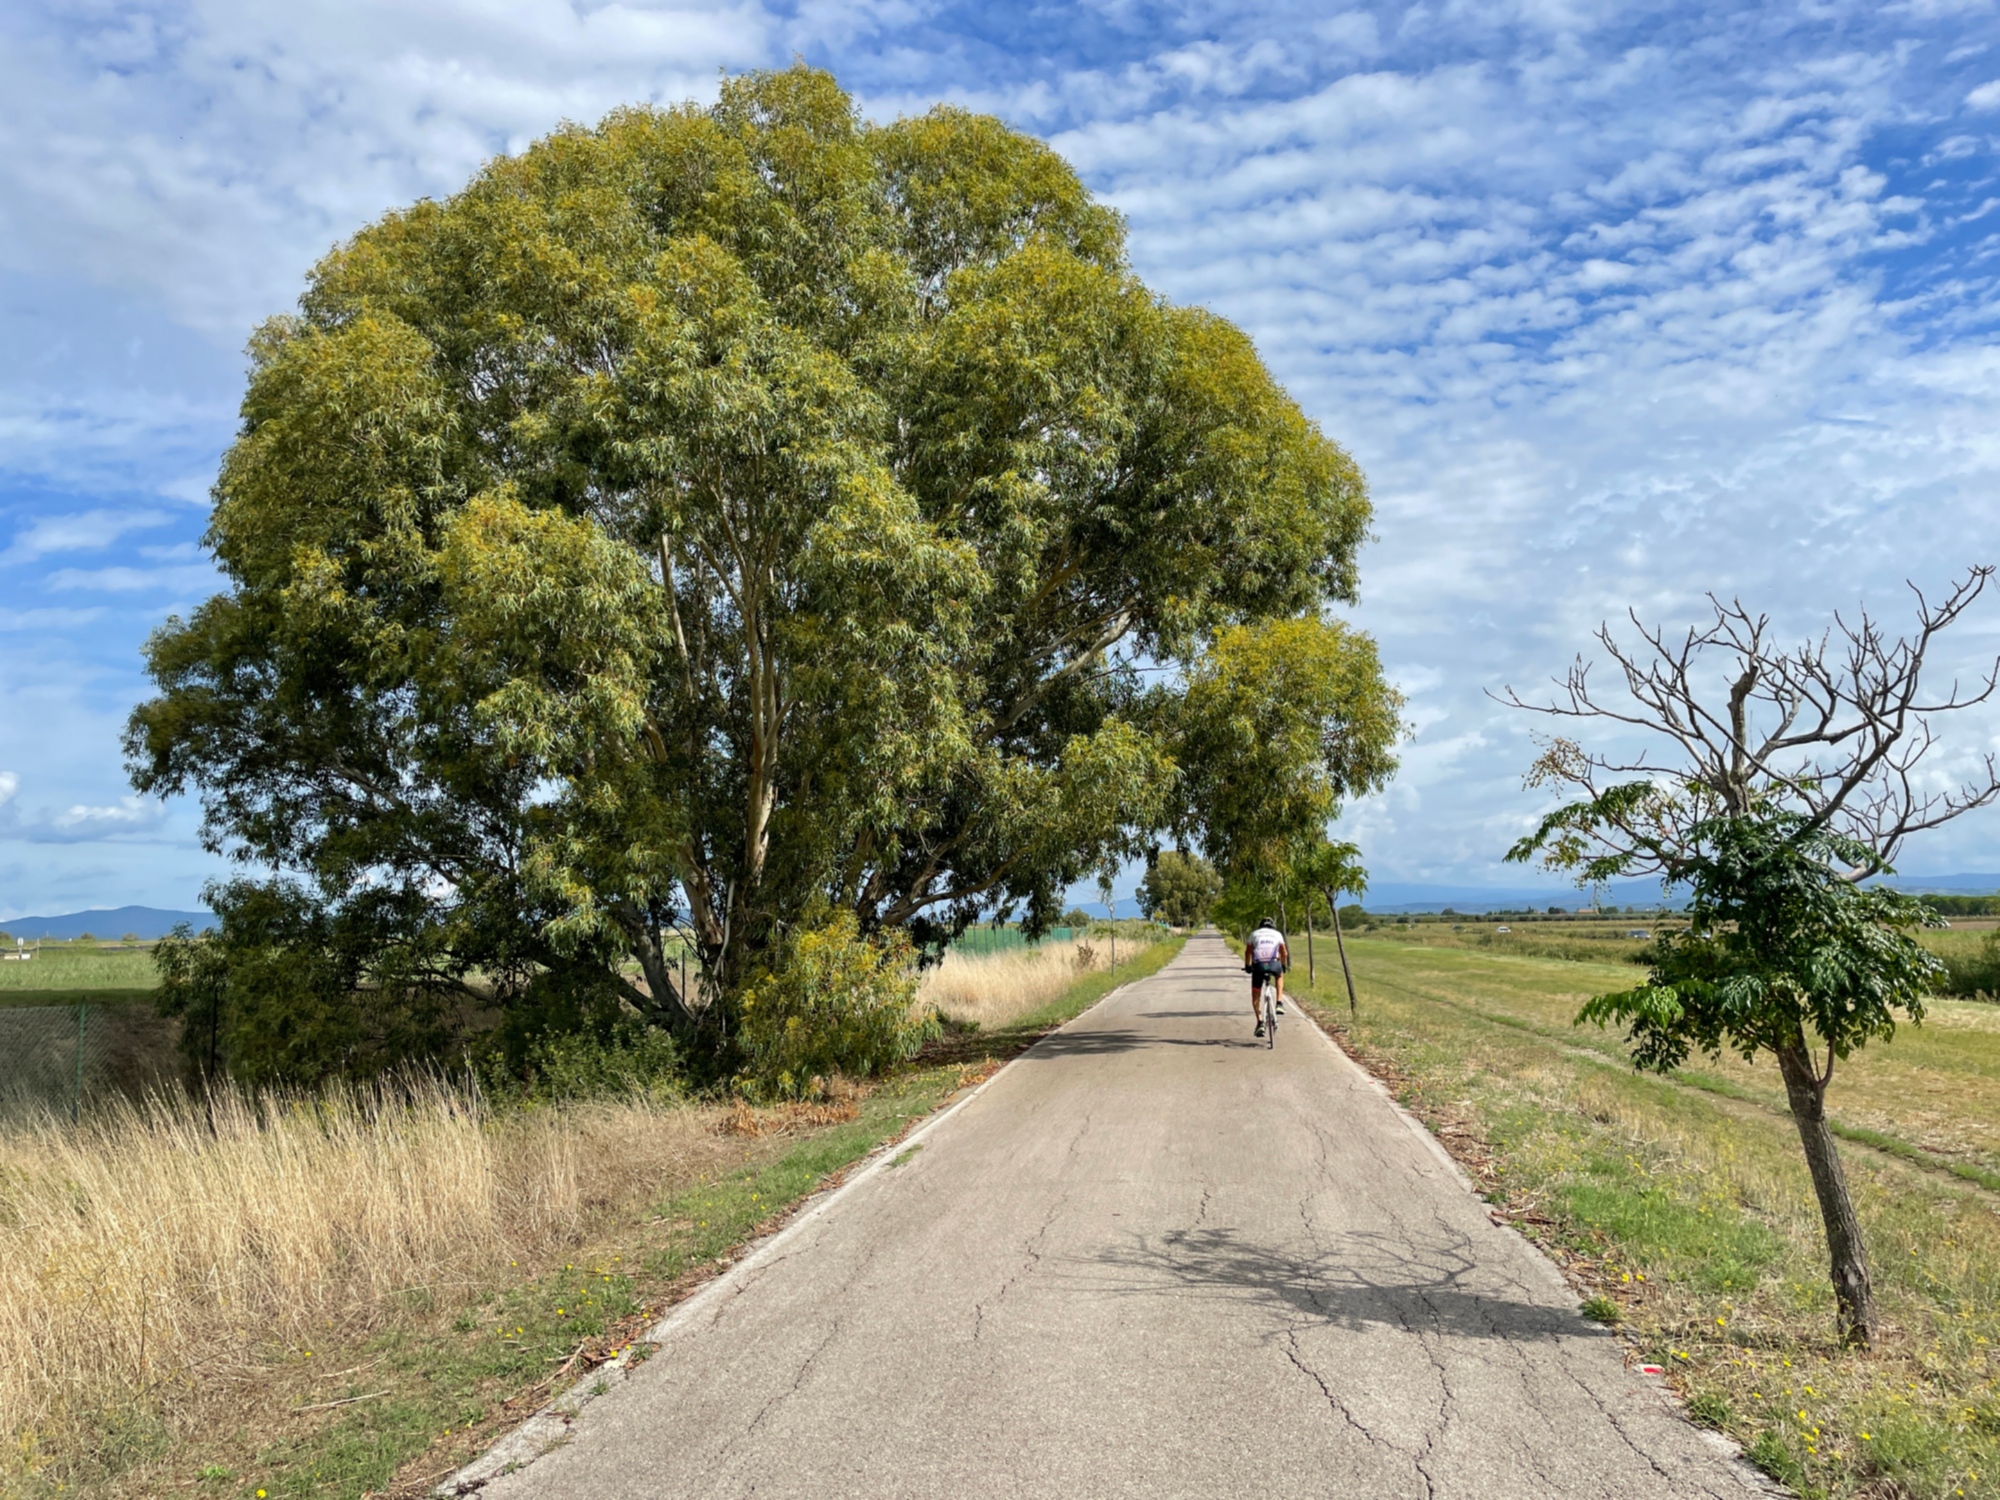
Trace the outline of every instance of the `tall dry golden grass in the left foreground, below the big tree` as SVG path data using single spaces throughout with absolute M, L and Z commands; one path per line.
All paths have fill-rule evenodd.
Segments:
M 432 1084 L 0 1134 L 4 1426 L 30 1466 L 112 1416 L 188 1430 L 330 1328 L 560 1258 L 598 1210 L 742 1156 L 718 1114 L 634 1100 L 490 1118 Z

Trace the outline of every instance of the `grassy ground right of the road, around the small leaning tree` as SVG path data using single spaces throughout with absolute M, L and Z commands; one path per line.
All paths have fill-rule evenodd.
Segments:
M 1508 952 L 1490 932 L 1348 950 L 1358 1024 L 1330 952 L 1316 1012 L 1566 1266 L 1586 1310 L 1668 1368 L 1690 1416 L 1806 1496 L 2000 1496 L 2000 1008 L 1942 1000 L 1834 1078 L 1884 1324 L 1852 1354 L 1832 1344 L 1774 1068 L 1636 1074 L 1616 1034 L 1570 1026 L 1590 994 L 1640 978 L 1616 958 Z

